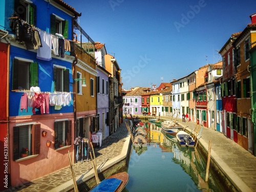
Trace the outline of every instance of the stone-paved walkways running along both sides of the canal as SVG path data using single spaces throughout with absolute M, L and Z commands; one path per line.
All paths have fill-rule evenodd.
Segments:
M 143 116 L 144 118 L 144 116 Z M 142 116 L 141 119 L 143 120 Z M 170 120 L 172 117 L 161 117 Z M 195 130 L 196 123 L 178 122 L 185 126 L 186 131 Z M 186 124 L 187 123 L 187 124 Z M 198 127 L 198 126 L 197 126 Z M 227 138 L 222 133 L 207 127 L 202 127 L 199 143 L 208 151 L 211 140 L 211 158 L 218 164 L 224 175 L 238 191 L 256 191 L 256 157 L 244 150 L 239 144 Z M 126 158 L 130 136 L 125 126 L 125 120 L 117 131 L 102 141 L 100 148 L 94 149 L 98 172 Z M 77 184 L 94 177 L 92 162 L 84 159 L 73 165 Z M 61 178 L 61 179 L 60 179 Z M 6 191 L 68 191 L 73 188 L 69 167 L 62 168 L 44 177 L 38 178 L 20 187 L 11 187 Z

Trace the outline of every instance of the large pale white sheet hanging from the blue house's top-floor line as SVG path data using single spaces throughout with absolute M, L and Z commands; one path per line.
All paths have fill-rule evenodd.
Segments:
M 52 59 L 52 35 L 43 31 L 39 31 L 39 34 L 42 47 L 37 50 L 36 58 L 49 61 Z

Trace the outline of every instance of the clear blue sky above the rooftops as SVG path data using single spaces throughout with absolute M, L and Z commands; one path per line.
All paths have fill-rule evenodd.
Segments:
M 126 90 L 158 87 L 218 62 L 218 50 L 256 13 L 255 0 L 63 1 L 82 13 L 83 30 L 115 56 Z

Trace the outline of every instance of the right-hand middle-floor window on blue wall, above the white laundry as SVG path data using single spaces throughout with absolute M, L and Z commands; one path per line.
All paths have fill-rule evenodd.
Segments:
M 55 91 L 69 92 L 69 70 L 62 66 L 54 65 Z

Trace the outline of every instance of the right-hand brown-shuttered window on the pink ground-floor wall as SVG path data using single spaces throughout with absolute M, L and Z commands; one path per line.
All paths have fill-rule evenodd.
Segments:
M 68 146 L 72 142 L 72 121 L 55 121 L 54 122 L 54 147 L 55 150 L 60 145 Z

